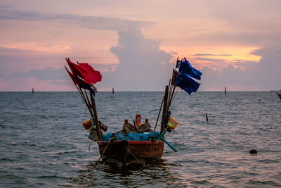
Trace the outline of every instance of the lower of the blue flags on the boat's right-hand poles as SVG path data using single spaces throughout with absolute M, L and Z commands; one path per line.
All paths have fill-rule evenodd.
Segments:
M 197 91 L 200 83 L 193 80 L 188 74 L 179 73 L 176 77 L 175 85 L 181 87 L 181 89 L 185 90 L 185 92 L 188 92 L 188 94 L 191 94 L 192 92 Z

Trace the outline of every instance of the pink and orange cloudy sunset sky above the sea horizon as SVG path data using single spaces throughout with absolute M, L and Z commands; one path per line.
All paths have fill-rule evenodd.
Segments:
M 99 91 L 163 91 L 176 58 L 199 91 L 281 89 L 281 1 L 0 0 L 0 92 L 75 91 L 65 57 Z

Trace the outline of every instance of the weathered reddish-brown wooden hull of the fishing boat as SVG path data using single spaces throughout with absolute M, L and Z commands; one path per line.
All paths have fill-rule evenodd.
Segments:
M 162 158 L 164 142 L 154 141 L 98 141 L 100 156 L 103 161 L 117 160 L 122 163 L 130 161 L 154 161 Z

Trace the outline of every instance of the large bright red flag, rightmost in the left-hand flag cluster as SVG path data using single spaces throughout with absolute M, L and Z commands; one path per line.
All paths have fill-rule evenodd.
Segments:
M 79 68 L 83 70 L 84 82 L 89 84 L 96 84 L 96 82 L 100 82 L 102 75 L 100 71 L 94 70 L 91 65 L 88 63 L 78 63 Z

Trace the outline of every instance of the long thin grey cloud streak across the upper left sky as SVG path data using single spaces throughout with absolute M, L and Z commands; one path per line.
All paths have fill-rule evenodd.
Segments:
M 147 27 L 154 24 L 150 21 L 125 20 L 121 18 L 107 18 L 102 16 L 41 13 L 38 11 L 20 11 L 1 9 L 1 20 L 26 20 L 26 21 L 60 21 L 61 23 L 86 27 L 91 30 L 126 30 L 129 27 Z

